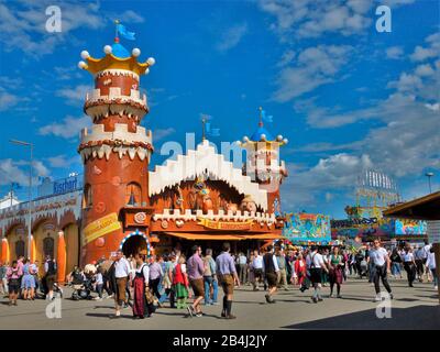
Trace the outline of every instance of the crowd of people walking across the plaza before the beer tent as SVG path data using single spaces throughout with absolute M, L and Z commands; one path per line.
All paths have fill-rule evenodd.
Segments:
M 438 287 L 436 260 L 431 245 L 409 244 L 385 249 L 380 240 L 346 249 L 340 246 L 285 248 L 282 243 L 266 245 L 264 250 L 244 254 L 231 253 L 230 243 L 222 245 L 221 253 L 194 245 L 185 255 L 174 250 L 164 255 L 147 255 L 141 251 L 125 257 L 118 251 L 114 257 L 101 257 L 85 268 L 75 267 L 67 275 L 74 287 L 74 299 L 114 299 L 116 312 L 132 308 L 134 318 L 151 317 L 169 302 L 169 307 L 185 310 L 189 317 L 202 317 L 202 306 L 222 306 L 221 317 L 234 319 L 232 301 L 234 288 L 249 285 L 254 292 L 264 289 L 267 304 L 275 304 L 278 289 L 311 292 L 311 300 L 323 300 L 322 287 L 329 287 L 329 298 L 342 298 L 343 283 L 351 277 L 367 278 L 375 288 L 374 300 L 382 300 L 381 280 L 393 299 L 388 273 L 403 278 L 407 272 L 408 285 L 415 280 L 429 280 Z M 0 288 L 9 295 L 9 304 L 16 306 L 18 297 L 53 299 L 56 263 L 46 257 L 40 276 L 38 263 L 20 257 L 9 265 L 0 265 Z M 223 292 L 219 299 L 219 287 Z

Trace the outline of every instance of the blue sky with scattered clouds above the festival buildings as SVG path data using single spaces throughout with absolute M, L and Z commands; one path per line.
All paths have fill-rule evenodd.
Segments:
M 62 33 L 45 31 L 45 9 L 62 9 Z M 376 7 L 392 9 L 392 32 L 375 29 Z M 220 136 L 250 135 L 263 106 L 283 134 L 289 177 L 286 211 L 342 217 L 364 168 L 395 177 L 405 199 L 440 188 L 440 34 L 435 0 L 3 1 L 0 4 L 0 187 L 23 185 L 26 153 L 54 178 L 81 172 L 76 153 L 90 75 L 79 53 L 103 56 L 112 20 L 136 33 L 123 41 L 156 58 L 141 86 L 156 151 L 186 132 L 200 138 L 201 112 Z M 158 154 L 158 153 L 157 153 Z M 161 155 L 152 164 L 162 163 Z

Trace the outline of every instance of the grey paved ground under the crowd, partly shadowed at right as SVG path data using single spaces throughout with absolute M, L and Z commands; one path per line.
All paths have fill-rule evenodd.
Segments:
M 9 307 L 0 300 L 0 329 L 440 329 L 440 306 L 431 284 L 406 286 L 393 280 L 395 299 L 392 318 L 376 317 L 377 304 L 372 301 L 373 287 L 365 280 L 350 279 L 343 285 L 343 298 L 328 298 L 320 304 L 310 301 L 310 293 L 297 288 L 280 292 L 275 305 L 264 302 L 263 292 L 249 286 L 237 290 L 233 311 L 237 320 L 219 318 L 220 307 L 205 307 L 206 317 L 187 318 L 184 311 L 162 308 L 153 318 L 133 320 L 131 309 L 119 319 L 109 319 L 112 300 L 63 299 L 62 318 L 47 319 L 43 300 L 22 301 Z M 66 296 L 69 296 L 66 289 Z M 324 298 L 329 288 L 323 288 Z

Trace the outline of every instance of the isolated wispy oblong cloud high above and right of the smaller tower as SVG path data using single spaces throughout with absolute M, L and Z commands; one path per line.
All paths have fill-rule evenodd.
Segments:
M 319 45 L 304 50 L 294 66 L 282 69 L 273 99 L 285 102 L 334 81 L 336 75 L 349 61 L 351 51 L 348 45 Z

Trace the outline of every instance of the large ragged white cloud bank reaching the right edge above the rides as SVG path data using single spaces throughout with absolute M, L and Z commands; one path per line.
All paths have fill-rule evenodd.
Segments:
M 389 96 L 365 109 L 341 112 L 336 108 L 316 107 L 314 99 L 297 102 L 296 109 L 307 111 L 307 121 L 314 128 L 334 128 L 367 119 L 380 121 L 381 127 L 348 145 L 316 142 L 299 147 L 298 152 L 317 153 L 340 152 L 346 147 L 350 154 L 326 156 L 316 165 L 290 174 L 293 179 L 286 180 L 284 189 L 295 191 L 287 199 L 294 205 L 305 205 L 318 197 L 326 198 L 324 191 L 348 191 L 363 167 L 383 170 L 398 179 L 417 179 L 426 169 L 440 169 L 439 78 L 440 59 L 437 59 L 403 72 L 397 80 L 388 84 L 393 89 Z M 421 194 L 426 194 L 426 188 Z

